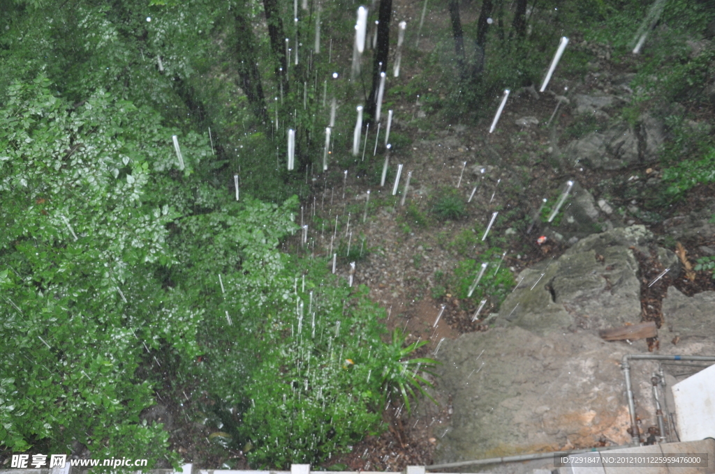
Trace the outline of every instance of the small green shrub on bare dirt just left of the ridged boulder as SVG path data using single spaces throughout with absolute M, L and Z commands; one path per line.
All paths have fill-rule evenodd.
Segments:
M 498 308 L 514 286 L 514 277 L 503 265 L 502 254 L 501 248 L 493 247 L 481 253 L 477 260 L 468 258 L 460 261 L 450 279 L 451 293 L 460 299 L 468 298 L 482 264 L 486 263 L 487 268 L 470 298 L 476 301 L 488 298 Z

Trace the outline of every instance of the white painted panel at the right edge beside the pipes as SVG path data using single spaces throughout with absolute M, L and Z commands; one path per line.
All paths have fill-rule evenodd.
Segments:
M 715 438 L 715 365 L 672 387 L 681 441 Z

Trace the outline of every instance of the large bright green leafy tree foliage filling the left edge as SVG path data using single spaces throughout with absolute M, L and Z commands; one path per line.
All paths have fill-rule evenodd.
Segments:
M 150 363 L 144 344 L 193 358 L 202 309 L 152 278 L 174 262 L 165 226 L 177 211 L 147 190 L 162 173 L 191 176 L 207 149 L 182 135 L 181 173 L 178 132 L 158 116 L 102 92 L 73 109 L 48 88 L 42 77 L 14 84 L 0 113 L 0 440 L 57 452 L 78 440 L 97 458 L 132 450 L 151 467 L 168 437 L 139 423 L 153 403 L 152 384 L 135 378 Z

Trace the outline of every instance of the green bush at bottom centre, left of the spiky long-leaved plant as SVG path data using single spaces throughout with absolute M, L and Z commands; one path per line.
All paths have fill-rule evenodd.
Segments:
M 256 370 L 235 382 L 250 404 L 240 435 L 253 446 L 252 465 L 320 463 L 380 429 L 380 380 L 370 377 L 386 362 L 377 308 L 366 288 L 352 297 L 345 286 L 324 292 L 310 317 L 305 306 L 305 317 L 296 315 L 292 303 L 292 311 L 270 318 Z

